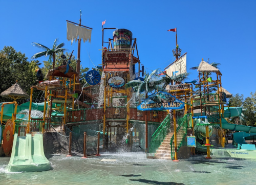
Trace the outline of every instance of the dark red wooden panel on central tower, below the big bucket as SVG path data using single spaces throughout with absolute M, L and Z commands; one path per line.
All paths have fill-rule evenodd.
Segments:
M 104 62 L 105 63 L 129 63 L 130 62 L 130 54 L 129 52 L 105 52 L 104 54 Z

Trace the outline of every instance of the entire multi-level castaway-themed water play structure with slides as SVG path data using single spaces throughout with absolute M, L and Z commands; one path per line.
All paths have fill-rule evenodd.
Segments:
M 1 103 L 1 150 L 11 156 L 7 171 L 49 170 L 45 152 L 87 158 L 99 155 L 100 146 L 104 151 L 136 148 L 146 151 L 148 158 L 175 161 L 195 152 L 206 153 L 207 158 L 256 157 L 255 146 L 246 143 L 254 139 L 256 128 L 227 121 L 240 117 L 242 108 L 225 106 L 229 92 L 222 87 L 222 74 L 216 67 L 202 60 L 199 82 L 181 83 L 186 53 L 181 55 L 177 33 L 176 60 L 164 72 L 155 70 L 148 75 L 133 33 L 102 25 L 101 66 L 87 73 L 89 85 L 82 86 L 80 44 L 82 39 L 90 41 L 92 29 L 82 26 L 81 19 L 76 25 L 67 22 L 68 39 L 77 39 L 69 29 L 86 33 L 77 39 L 76 71 L 66 61 L 53 67 L 46 81 L 31 87 L 30 102 L 18 105 L 16 97 L 13 102 Z M 115 30 L 113 38 L 104 42 L 104 31 L 111 29 Z M 199 86 L 196 91 L 195 85 Z M 217 91 L 212 92 L 211 87 Z M 32 102 L 33 90 L 42 91 L 44 102 Z M 225 129 L 240 131 L 233 137 L 237 148 L 225 148 Z

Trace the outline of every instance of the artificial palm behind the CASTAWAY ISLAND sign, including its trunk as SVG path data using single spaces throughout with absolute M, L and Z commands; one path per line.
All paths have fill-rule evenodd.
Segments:
M 170 83 L 170 77 L 167 75 L 165 77 L 159 77 L 158 73 L 159 69 L 153 71 L 150 75 L 146 74 L 144 81 L 140 80 L 132 80 L 125 84 L 126 88 L 133 87 L 134 91 L 136 91 L 136 96 L 139 96 L 141 92 L 145 91 L 145 98 L 147 98 L 148 92 L 153 92 L 156 90 L 166 91 L 165 87 Z M 160 78 L 160 79 L 159 79 Z M 146 149 L 148 147 L 147 142 L 147 114 L 145 115 L 145 126 L 146 126 Z

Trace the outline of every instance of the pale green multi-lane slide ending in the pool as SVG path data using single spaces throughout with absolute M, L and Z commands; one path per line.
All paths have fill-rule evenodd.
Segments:
M 33 172 L 50 170 L 50 162 L 45 157 L 42 134 L 14 134 L 11 159 L 6 167 L 7 172 Z

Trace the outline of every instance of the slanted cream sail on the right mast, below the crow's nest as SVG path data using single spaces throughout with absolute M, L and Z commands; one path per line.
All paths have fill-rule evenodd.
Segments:
M 165 68 L 166 74 L 169 77 L 172 77 L 172 76 L 180 75 L 182 73 L 186 73 L 187 72 L 186 64 L 187 64 L 187 55 L 185 54 L 179 59 L 177 59 L 174 63 L 170 64 Z

